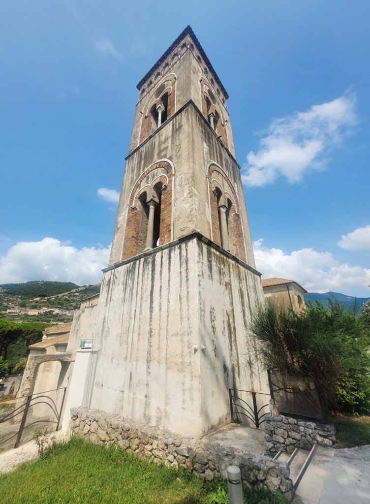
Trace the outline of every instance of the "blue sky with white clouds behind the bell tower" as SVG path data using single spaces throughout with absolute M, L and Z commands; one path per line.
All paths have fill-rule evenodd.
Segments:
M 230 95 L 263 277 L 370 296 L 369 14 L 368 0 L 3 0 L 0 283 L 100 281 L 136 84 L 190 24 Z

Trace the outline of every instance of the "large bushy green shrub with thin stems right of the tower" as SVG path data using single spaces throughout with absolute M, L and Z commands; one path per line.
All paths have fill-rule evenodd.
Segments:
M 296 313 L 266 302 L 252 314 L 258 358 L 282 375 L 315 380 L 324 412 L 370 410 L 370 327 L 333 296 Z

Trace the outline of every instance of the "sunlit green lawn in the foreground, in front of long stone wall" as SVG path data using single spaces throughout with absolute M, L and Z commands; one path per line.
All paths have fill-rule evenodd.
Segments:
M 46 455 L 0 476 L 2 504 L 228 504 L 225 480 L 205 482 L 189 471 L 150 464 L 125 451 L 71 438 Z M 248 504 L 284 504 L 265 489 Z

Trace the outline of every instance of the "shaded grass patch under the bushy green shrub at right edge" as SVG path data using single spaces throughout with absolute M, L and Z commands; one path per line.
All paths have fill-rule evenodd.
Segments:
M 370 416 L 336 414 L 331 418 L 337 429 L 337 448 L 370 445 Z

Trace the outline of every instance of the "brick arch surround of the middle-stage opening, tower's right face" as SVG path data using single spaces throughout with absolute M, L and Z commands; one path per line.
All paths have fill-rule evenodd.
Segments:
M 227 192 L 232 195 L 233 201 L 231 202 L 231 208 L 228 218 L 228 233 L 229 233 L 229 246 L 230 252 L 238 259 L 246 263 L 245 245 L 243 229 L 240 220 L 239 212 L 239 200 L 235 193 L 235 190 L 227 177 L 226 173 L 217 166 L 216 164 L 210 164 L 208 168 L 208 184 L 209 184 L 209 197 L 210 197 L 210 214 L 211 214 L 211 226 L 212 226 L 212 236 L 213 241 L 218 245 L 221 245 L 221 235 L 220 235 L 220 224 L 218 217 L 218 205 L 217 197 L 213 193 L 215 187 L 218 187 L 221 193 L 224 193 L 226 187 L 220 187 L 220 183 L 214 180 L 212 174 L 217 171 L 222 176 L 223 180 L 227 183 Z M 231 200 L 230 200 L 231 201 Z

